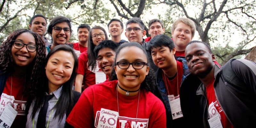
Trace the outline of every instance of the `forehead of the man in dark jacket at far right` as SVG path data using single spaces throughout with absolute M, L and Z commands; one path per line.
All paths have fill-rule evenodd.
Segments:
M 186 47 L 186 49 L 185 49 L 185 56 L 187 54 L 194 54 L 194 53 L 196 53 L 199 50 L 203 50 L 205 52 L 209 52 L 208 48 L 203 43 L 192 43 L 192 44 L 189 44 Z

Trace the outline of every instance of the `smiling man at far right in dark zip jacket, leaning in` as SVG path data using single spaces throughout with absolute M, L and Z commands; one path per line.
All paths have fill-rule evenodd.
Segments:
M 229 60 L 223 68 L 214 64 L 215 56 L 204 42 L 192 41 L 185 50 L 188 69 L 191 72 L 182 86 L 188 90 L 197 87 L 180 99 L 182 105 L 190 105 L 192 97 L 199 97 L 201 110 L 196 111 L 204 121 L 204 127 L 213 125 L 232 127 L 255 127 L 256 120 L 256 65 L 249 60 Z M 193 81 L 193 83 L 191 82 Z M 196 95 L 196 96 L 195 96 Z M 187 101 L 187 102 L 185 102 Z M 193 117 L 193 115 L 190 115 Z

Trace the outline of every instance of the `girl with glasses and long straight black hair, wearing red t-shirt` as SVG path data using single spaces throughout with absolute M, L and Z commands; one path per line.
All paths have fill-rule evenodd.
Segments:
M 100 26 L 94 26 L 93 28 L 91 28 L 89 32 L 87 51 L 81 53 L 78 58 L 79 66 L 77 69 L 75 91 L 82 92 L 82 85 L 84 85 L 85 89 L 86 87 L 99 82 L 95 79 L 97 75 L 104 76 L 104 73 L 102 71 L 99 71 L 100 69 L 97 65 L 97 58 L 93 50 L 95 46 L 98 45 L 101 41 L 107 39 L 108 35 L 104 28 Z M 105 80 L 101 80 L 100 82 L 103 82 Z

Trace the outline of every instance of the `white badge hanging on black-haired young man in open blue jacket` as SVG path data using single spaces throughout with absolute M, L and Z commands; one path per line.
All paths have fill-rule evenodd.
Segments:
M 181 107 L 180 107 L 180 95 L 174 97 L 173 95 L 168 95 L 169 104 L 172 112 L 172 119 L 178 119 L 183 117 Z

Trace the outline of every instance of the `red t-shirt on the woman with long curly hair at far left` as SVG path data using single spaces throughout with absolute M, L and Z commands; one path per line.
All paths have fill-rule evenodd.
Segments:
M 25 86 L 25 77 L 24 78 L 16 78 L 14 76 L 11 76 L 7 78 L 4 91 L 6 95 L 14 96 L 14 101 L 12 104 L 12 107 L 18 112 L 18 115 L 15 117 L 12 127 L 25 127 L 26 126 L 26 119 L 27 116 L 25 115 L 25 108 L 27 104 L 27 95 L 24 95 L 24 86 Z M 12 90 L 12 91 L 11 91 Z M 2 94 L 5 95 L 5 94 Z M 1 97 L 0 97 L 1 99 Z M 1 99 L 1 109 L 2 107 L 5 107 L 7 101 L 4 101 L 6 99 Z

